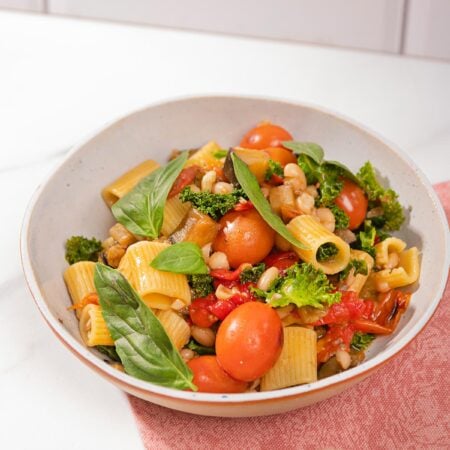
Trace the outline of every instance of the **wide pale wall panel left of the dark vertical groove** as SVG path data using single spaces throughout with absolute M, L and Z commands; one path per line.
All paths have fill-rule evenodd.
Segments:
M 48 0 L 51 13 L 397 52 L 404 0 Z

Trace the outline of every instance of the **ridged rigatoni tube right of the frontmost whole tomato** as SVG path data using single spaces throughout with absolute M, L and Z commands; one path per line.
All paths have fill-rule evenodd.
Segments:
M 275 365 L 262 377 L 261 391 L 317 380 L 317 335 L 302 327 L 284 328 L 284 344 Z

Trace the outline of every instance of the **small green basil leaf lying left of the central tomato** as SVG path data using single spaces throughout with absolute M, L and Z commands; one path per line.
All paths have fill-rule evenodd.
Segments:
M 179 242 L 165 248 L 153 259 L 150 265 L 154 269 L 186 275 L 208 273 L 202 251 L 193 242 Z

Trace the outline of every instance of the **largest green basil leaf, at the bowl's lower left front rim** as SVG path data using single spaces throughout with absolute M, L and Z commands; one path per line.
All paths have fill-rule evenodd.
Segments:
M 197 390 L 192 372 L 160 321 L 126 278 L 119 271 L 97 263 L 94 283 L 125 371 L 160 386 Z

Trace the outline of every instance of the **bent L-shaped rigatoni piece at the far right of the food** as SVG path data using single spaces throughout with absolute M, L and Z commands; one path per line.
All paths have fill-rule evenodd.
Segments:
M 386 285 L 390 289 L 408 286 L 419 278 L 419 250 L 411 247 L 399 254 L 399 266 L 394 269 L 384 269 L 374 273 L 377 286 Z

